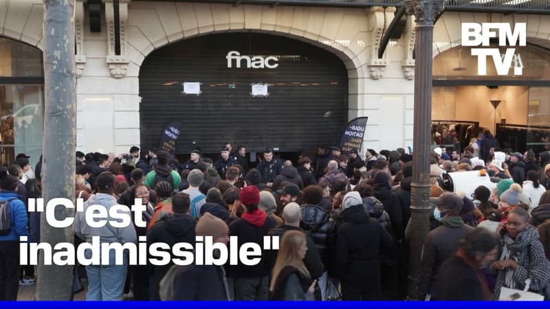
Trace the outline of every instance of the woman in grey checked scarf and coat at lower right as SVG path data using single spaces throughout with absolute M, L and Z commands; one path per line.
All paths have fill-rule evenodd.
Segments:
M 529 291 L 548 297 L 544 290 L 550 282 L 550 262 L 536 227 L 529 225 L 527 211 L 520 207 L 510 211 L 507 222 L 500 225 L 497 233 L 502 236 L 503 251 L 500 260 L 491 266 L 498 270 L 495 299 L 503 287 L 523 290 L 527 279 L 531 279 Z

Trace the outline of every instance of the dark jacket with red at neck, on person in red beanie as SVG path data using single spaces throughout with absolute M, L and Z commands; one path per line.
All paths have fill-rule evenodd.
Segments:
M 275 220 L 260 209 L 256 209 L 252 213 L 246 211 L 241 218 L 231 222 L 229 234 L 238 237 L 239 249 L 247 242 L 254 242 L 262 248 L 262 254 L 260 262 L 254 266 L 246 266 L 241 261 L 236 265 L 230 265 L 228 267 L 229 277 L 257 278 L 270 275 L 271 255 L 269 250 L 263 250 L 263 236 L 267 236 L 270 229 L 275 226 Z

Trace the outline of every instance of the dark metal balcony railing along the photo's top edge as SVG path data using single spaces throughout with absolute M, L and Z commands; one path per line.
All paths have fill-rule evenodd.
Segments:
M 146 0 L 136 0 L 146 1 Z M 370 6 L 403 6 L 404 0 L 149 0 L 177 2 L 213 2 L 263 5 L 314 5 L 365 8 Z M 550 0 L 447 0 L 445 10 L 550 14 Z

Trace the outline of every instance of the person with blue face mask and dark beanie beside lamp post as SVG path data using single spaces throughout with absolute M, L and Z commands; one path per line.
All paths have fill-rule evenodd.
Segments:
M 433 290 L 439 268 L 456 252 L 460 240 L 473 229 L 465 225 L 460 216 L 464 201 L 456 193 L 444 192 L 439 198 L 430 198 L 430 202 L 437 205 L 434 218 L 442 225 L 430 231 L 424 241 L 417 299 L 439 299 Z

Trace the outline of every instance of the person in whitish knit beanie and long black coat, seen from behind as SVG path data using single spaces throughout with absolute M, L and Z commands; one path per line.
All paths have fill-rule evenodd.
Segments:
M 342 201 L 342 225 L 336 242 L 336 274 L 344 300 L 377 300 L 382 296 L 380 253 L 392 247 L 390 234 L 366 213 L 358 192 Z

